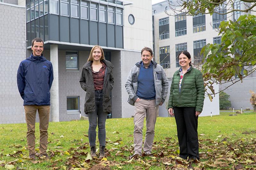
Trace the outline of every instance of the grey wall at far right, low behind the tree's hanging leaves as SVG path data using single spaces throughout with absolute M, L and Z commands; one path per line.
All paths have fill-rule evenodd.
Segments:
M 231 83 L 220 84 L 219 89 L 222 90 Z M 234 85 L 228 87 L 224 90 L 225 93 L 230 95 L 229 100 L 231 101 L 231 107 L 235 109 L 241 110 L 250 107 L 253 109 L 250 98 L 251 93 L 250 90 L 256 92 L 256 78 L 244 78 L 243 83 L 237 82 Z

